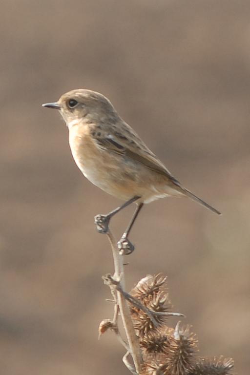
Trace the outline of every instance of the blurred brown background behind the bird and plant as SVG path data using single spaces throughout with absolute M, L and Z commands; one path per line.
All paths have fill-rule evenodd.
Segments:
M 112 272 L 93 217 L 120 202 L 75 166 L 41 104 L 102 92 L 186 187 L 144 208 L 127 288 L 162 271 L 201 355 L 247 374 L 250 315 L 250 2 L 1 1 L 0 358 L 4 375 L 128 374 L 97 340 Z M 119 236 L 133 208 L 113 220 Z M 169 320 L 174 325 L 175 319 Z

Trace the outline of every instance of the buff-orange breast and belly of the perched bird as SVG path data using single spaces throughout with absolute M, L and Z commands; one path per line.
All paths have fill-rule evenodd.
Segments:
M 105 192 L 123 200 L 139 195 L 145 203 L 167 195 L 147 168 L 99 148 L 86 125 L 69 129 L 69 145 L 83 175 Z

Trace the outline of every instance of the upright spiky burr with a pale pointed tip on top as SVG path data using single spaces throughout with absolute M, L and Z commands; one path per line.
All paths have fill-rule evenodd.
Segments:
M 198 341 L 196 335 L 189 330 L 189 326 L 180 328 L 178 322 L 173 334 L 168 337 L 167 374 L 185 375 L 192 368 Z

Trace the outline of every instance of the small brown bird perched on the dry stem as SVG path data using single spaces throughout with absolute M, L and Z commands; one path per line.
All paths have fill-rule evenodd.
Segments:
M 127 237 L 144 203 L 167 196 L 188 197 L 220 214 L 181 186 L 104 95 L 77 89 L 63 94 L 58 102 L 42 106 L 60 111 L 69 130 L 73 158 L 83 175 L 92 184 L 125 201 L 108 214 L 95 217 L 98 231 L 106 233 L 110 218 L 136 202 L 132 220 L 118 242 L 121 253 L 134 250 Z

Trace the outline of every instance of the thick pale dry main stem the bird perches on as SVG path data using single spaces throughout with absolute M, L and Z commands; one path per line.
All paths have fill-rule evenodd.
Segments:
M 114 279 L 117 281 L 120 281 L 122 289 L 124 290 L 125 288 L 125 276 L 124 276 L 124 267 L 123 267 L 123 255 L 119 254 L 119 250 L 117 248 L 117 241 L 115 240 L 112 232 L 109 230 L 107 233 L 112 253 L 113 253 L 113 258 L 114 258 Z M 120 279 L 121 277 L 121 279 Z M 136 373 L 140 373 L 141 365 L 143 362 L 142 359 L 142 353 L 139 345 L 139 340 L 135 334 L 135 330 L 133 327 L 131 315 L 129 308 L 127 306 L 127 302 L 125 300 L 124 295 L 121 292 L 117 292 L 117 300 L 118 300 L 118 306 L 119 306 L 119 311 L 123 320 L 123 325 L 128 341 L 128 345 L 130 348 L 130 354 L 133 358 L 134 366 L 136 369 Z M 136 374 L 135 373 L 135 374 Z

